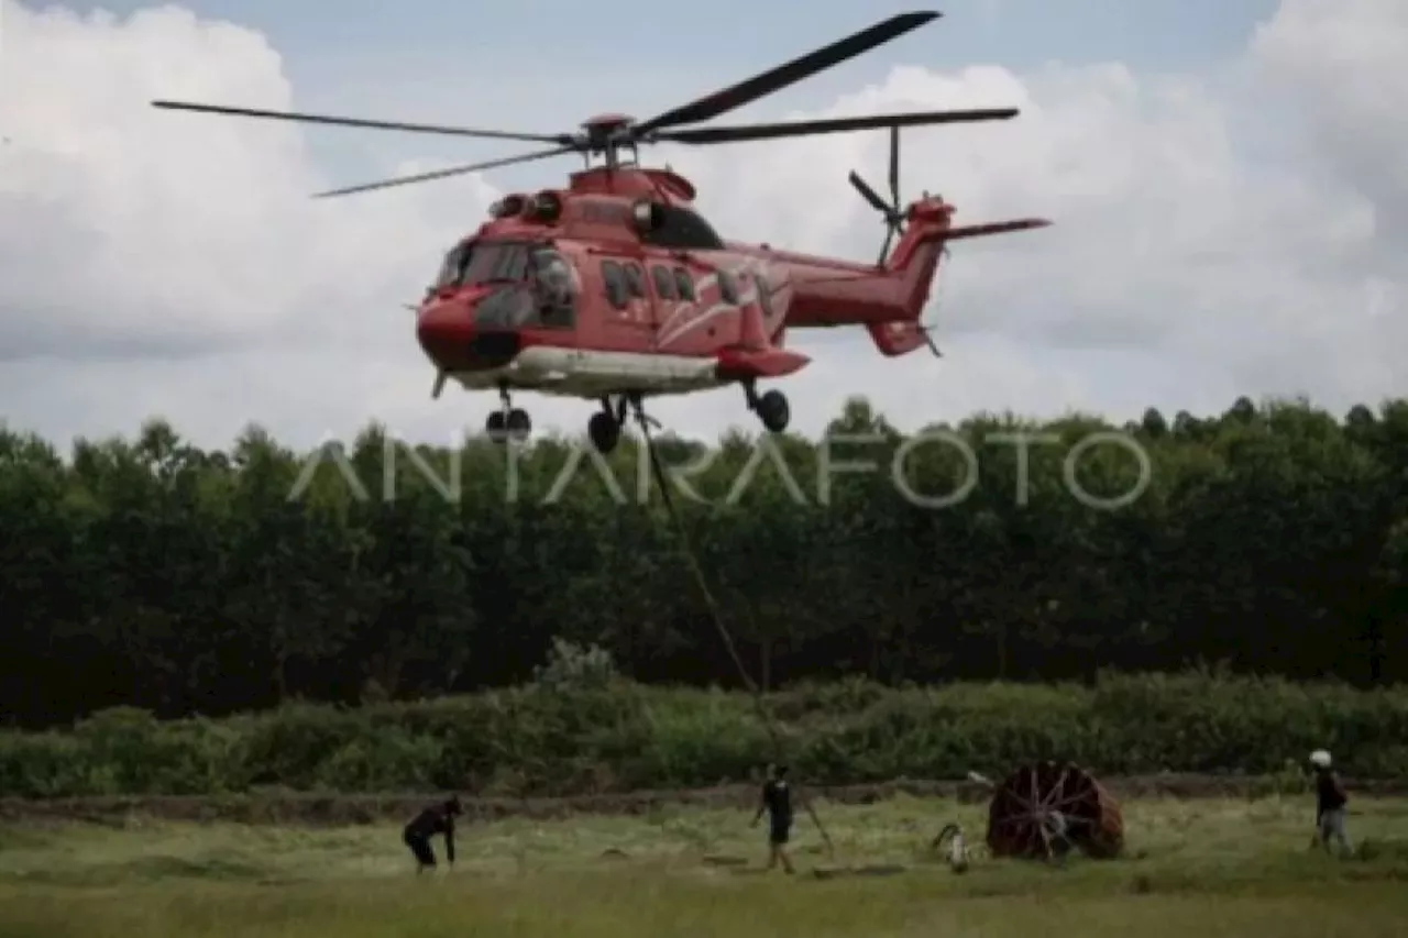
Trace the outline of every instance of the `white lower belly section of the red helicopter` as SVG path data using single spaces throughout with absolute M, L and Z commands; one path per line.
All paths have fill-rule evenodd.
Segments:
M 601 352 L 576 348 L 525 348 L 510 363 L 452 377 L 465 390 L 497 390 L 507 386 L 555 397 L 600 400 L 627 390 L 645 394 L 687 394 L 722 387 L 718 361 L 689 355 Z

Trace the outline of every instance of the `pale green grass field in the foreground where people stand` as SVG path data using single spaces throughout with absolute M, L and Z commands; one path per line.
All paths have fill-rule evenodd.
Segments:
M 981 810 L 818 804 L 836 855 L 803 814 L 794 879 L 758 875 L 760 830 L 724 810 L 472 825 L 456 868 L 422 877 L 394 824 L 11 823 L 0 828 L 0 937 L 1373 938 L 1408 923 L 1408 801 L 1356 799 L 1350 835 L 1364 849 L 1349 861 L 1307 849 L 1307 799 L 1126 803 L 1128 856 L 1112 862 L 980 856 L 956 876 L 925 856 L 949 820 L 981 839 Z M 886 866 L 907 869 L 874 875 Z

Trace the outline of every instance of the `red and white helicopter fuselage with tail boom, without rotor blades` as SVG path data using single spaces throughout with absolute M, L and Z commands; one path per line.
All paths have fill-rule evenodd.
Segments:
M 469 390 L 598 399 L 781 377 L 810 361 L 783 348 L 787 328 L 915 321 L 952 213 L 911 206 L 880 266 L 725 242 L 693 194 L 631 168 L 505 197 L 446 256 L 418 313 L 422 349 Z

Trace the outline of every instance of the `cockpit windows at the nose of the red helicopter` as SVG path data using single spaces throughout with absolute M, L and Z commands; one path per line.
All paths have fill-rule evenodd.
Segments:
M 435 290 L 504 284 L 476 307 L 482 325 L 570 328 L 577 279 L 572 263 L 545 244 L 472 241 L 445 258 Z M 491 321 L 490 321 L 491 320 Z

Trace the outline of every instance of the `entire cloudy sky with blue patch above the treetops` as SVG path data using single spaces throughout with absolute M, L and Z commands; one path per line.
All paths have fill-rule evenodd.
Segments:
M 290 444 L 369 420 L 448 442 L 490 394 L 448 389 L 401 304 L 497 193 L 570 159 L 313 201 L 321 189 L 513 144 L 156 111 L 155 97 L 522 131 L 648 117 L 890 13 L 714 0 L 0 0 L 0 420 L 56 442 L 152 415 Z M 977 223 L 1056 227 L 955 245 L 931 318 L 946 358 L 863 332 L 794 334 L 784 389 L 817 431 L 863 393 L 901 425 L 1221 411 L 1309 394 L 1343 410 L 1408 383 L 1408 3 L 966 0 L 938 23 L 729 121 L 1018 106 L 905 131 L 903 194 Z M 869 10 L 869 11 L 867 11 Z M 335 13 L 334 13 L 335 11 Z M 883 131 L 659 146 L 725 234 L 870 258 Z M 587 403 L 521 401 L 576 432 Z M 752 428 L 719 390 L 655 414 Z

